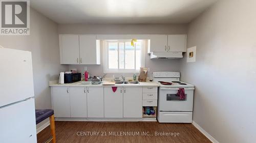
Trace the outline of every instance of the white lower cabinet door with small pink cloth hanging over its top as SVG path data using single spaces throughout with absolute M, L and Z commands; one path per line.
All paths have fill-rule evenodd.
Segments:
M 123 87 L 104 87 L 104 118 L 123 118 Z

